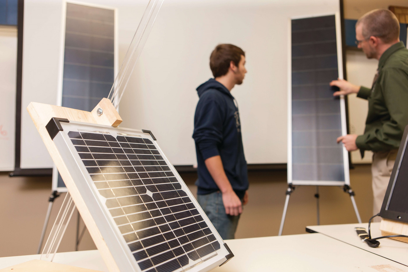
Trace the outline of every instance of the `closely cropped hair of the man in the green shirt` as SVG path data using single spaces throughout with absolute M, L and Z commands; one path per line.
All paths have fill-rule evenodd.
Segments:
M 357 20 L 356 27 L 359 24 L 362 24 L 362 34 L 365 39 L 375 36 L 385 43 L 390 43 L 399 38 L 398 19 L 388 9 L 374 9 L 367 12 Z

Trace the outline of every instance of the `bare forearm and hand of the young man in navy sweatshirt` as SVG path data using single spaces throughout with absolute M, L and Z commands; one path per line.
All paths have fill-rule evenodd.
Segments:
M 217 155 L 207 158 L 204 163 L 222 193 L 222 203 L 225 207 L 225 213 L 230 215 L 241 214 L 242 203 L 232 189 L 231 183 L 228 181 L 224 167 L 222 166 L 221 156 Z

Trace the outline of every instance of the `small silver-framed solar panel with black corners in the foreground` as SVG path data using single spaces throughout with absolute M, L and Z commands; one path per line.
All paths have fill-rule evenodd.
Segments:
M 70 177 L 60 171 L 118 271 L 208 271 L 233 256 L 153 134 L 65 121 L 47 125 Z

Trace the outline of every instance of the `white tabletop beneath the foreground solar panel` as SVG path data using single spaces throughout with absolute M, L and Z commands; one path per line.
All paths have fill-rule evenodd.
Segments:
M 298 234 L 226 240 L 235 254 L 214 272 L 408 272 L 408 267 L 332 239 L 324 234 Z M 0 258 L 0 269 L 39 259 L 40 255 Z M 107 272 L 98 250 L 57 253 L 57 263 Z M 386 269 L 386 270 L 381 270 Z

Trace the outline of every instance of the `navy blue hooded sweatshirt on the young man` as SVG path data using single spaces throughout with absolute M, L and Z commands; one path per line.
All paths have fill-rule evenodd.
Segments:
M 239 198 L 243 198 L 248 189 L 248 173 L 234 97 L 213 78 L 197 87 L 197 92 L 200 100 L 195 109 L 193 132 L 198 163 L 197 194 L 211 194 L 219 190 L 204 161 L 220 155 L 233 190 Z

